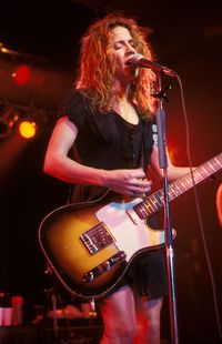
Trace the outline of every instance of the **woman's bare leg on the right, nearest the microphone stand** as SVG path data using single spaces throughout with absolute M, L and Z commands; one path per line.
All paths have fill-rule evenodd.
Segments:
M 160 314 L 163 299 L 135 299 L 138 332 L 134 344 L 160 344 Z

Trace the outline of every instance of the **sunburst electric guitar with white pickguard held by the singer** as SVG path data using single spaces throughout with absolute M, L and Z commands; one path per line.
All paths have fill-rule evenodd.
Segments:
M 222 168 L 222 153 L 169 184 L 172 201 Z M 164 231 L 147 220 L 164 205 L 163 189 L 145 199 L 63 205 L 40 224 L 40 246 L 64 287 L 83 299 L 100 299 L 122 279 L 133 259 L 164 245 Z

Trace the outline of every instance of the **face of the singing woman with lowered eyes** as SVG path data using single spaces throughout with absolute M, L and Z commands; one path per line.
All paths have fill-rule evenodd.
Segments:
M 124 27 L 117 27 L 112 30 L 112 44 L 111 52 L 117 63 L 118 79 L 132 80 L 135 74 L 135 69 L 130 65 L 125 65 L 125 62 L 137 51 L 133 45 L 133 39 L 130 31 Z

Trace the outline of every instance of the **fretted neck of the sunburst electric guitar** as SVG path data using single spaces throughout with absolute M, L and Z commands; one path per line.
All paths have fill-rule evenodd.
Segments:
M 188 173 L 179 180 L 169 184 L 169 201 L 173 201 L 185 191 L 199 184 L 210 175 L 214 174 L 222 168 L 222 153 L 206 161 L 199 168 Z M 161 189 L 151 194 L 144 201 L 134 205 L 133 210 L 140 219 L 151 217 L 154 213 L 159 212 L 164 205 L 164 190 Z

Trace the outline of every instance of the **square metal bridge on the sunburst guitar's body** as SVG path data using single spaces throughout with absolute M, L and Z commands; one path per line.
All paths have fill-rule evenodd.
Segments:
M 114 241 L 103 222 L 82 233 L 80 239 L 90 254 L 95 254 Z

